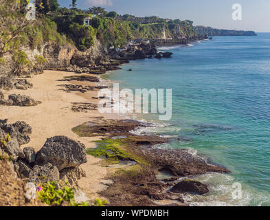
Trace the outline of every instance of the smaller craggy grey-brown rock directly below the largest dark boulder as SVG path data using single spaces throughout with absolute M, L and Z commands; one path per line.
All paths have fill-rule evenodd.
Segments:
M 52 164 L 45 164 L 44 166 L 34 166 L 29 174 L 29 180 L 34 183 L 46 183 L 47 181 L 58 181 L 59 171 L 56 166 Z

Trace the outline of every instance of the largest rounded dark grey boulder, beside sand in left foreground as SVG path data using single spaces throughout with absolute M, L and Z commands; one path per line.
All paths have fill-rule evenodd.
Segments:
M 43 148 L 36 155 L 36 163 L 51 163 L 63 170 L 85 164 L 87 155 L 85 144 L 76 142 L 65 136 L 55 136 L 48 138 Z

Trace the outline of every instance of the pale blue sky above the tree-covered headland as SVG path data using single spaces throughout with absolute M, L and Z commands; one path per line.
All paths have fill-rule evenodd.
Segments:
M 71 0 L 58 0 L 58 3 L 69 8 Z M 241 21 L 232 19 L 234 3 L 242 6 Z M 212 28 L 270 32 L 269 0 L 77 0 L 78 8 L 91 6 L 136 17 L 155 15 L 165 19 L 188 19 L 194 21 L 194 25 Z

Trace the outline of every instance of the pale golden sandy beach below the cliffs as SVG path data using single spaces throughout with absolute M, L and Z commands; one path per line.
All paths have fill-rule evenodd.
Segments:
M 80 141 L 85 144 L 86 148 L 95 147 L 92 141 L 99 140 L 100 137 L 78 137 L 71 129 L 79 124 L 91 121 L 91 118 L 101 117 L 102 115 L 96 110 L 87 113 L 74 112 L 71 110 L 71 103 L 89 102 L 97 104 L 98 100 L 92 97 L 97 96 L 98 90 L 87 91 L 85 94 L 78 91 L 67 93 L 61 90 L 64 87 L 59 85 L 63 85 L 65 82 L 58 80 L 65 76 L 74 75 L 76 74 L 72 72 L 45 71 L 41 75 L 27 79 L 33 84 L 32 89 L 4 91 L 5 98 L 8 98 L 10 94 L 21 94 L 42 102 L 34 107 L 1 106 L 0 118 L 8 118 L 9 123 L 25 121 L 32 126 L 31 142 L 23 147 L 31 146 L 38 151 L 47 138 L 56 135 L 65 135 L 73 140 Z M 91 75 L 89 74 L 89 76 Z M 95 83 L 78 81 L 71 81 L 69 84 L 95 85 Z M 117 117 L 106 115 L 106 118 L 115 119 Z M 87 173 L 87 177 L 80 179 L 79 186 L 89 199 L 95 199 L 98 197 L 97 192 L 105 187 L 102 184 L 102 178 L 106 176 L 107 170 L 105 167 L 98 165 L 101 159 L 87 155 L 87 160 L 87 164 L 82 164 L 82 169 Z

